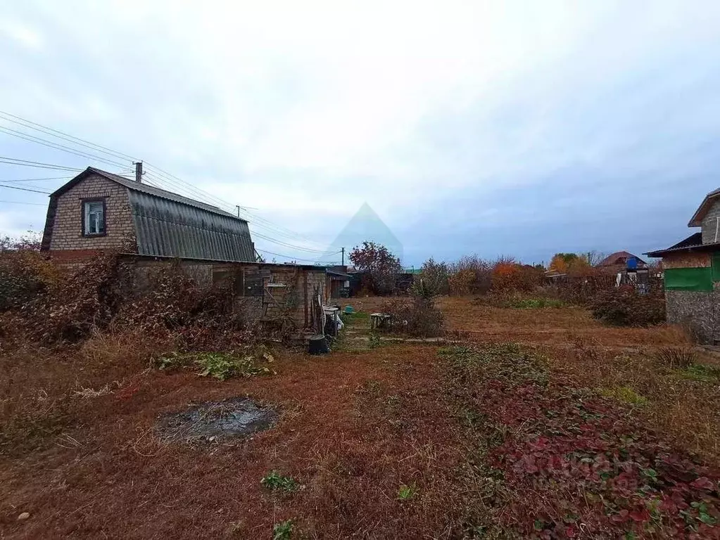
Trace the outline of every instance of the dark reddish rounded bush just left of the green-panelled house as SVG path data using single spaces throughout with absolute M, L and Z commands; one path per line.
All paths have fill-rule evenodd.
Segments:
M 665 321 L 665 297 L 631 288 L 604 290 L 591 304 L 593 317 L 613 326 L 648 326 Z

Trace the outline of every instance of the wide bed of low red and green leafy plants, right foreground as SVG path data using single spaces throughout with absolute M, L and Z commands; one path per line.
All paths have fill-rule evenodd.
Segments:
M 494 435 L 487 475 L 502 478 L 503 526 L 541 539 L 720 538 L 718 470 L 518 347 L 442 352 Z

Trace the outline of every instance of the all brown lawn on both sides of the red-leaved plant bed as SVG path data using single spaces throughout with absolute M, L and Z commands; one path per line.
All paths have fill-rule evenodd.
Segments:
M 349 303 L 374 311 L 382 299 Z M 545 359 L 550 377 L 605 395 L 675 451 L 718 462 L 714 372 L 663 370 L 653 360 L 659 347 L 684 344 L 678 329 L 608 328 L 580 308 L 490 308 L 469 298 L 440 306 L 452 339 L 519 342 Z M 437 344 L 278 352 L 275 375 L 224 382 L 149 369 L 151 344 L 140 345 L 141 337 L 98 337 L 63 354 L 0 357 L 1 538 L 269 539 L 285 520 L 293 538 L 481 538 L 490 530 L 468 524 L 489 519 L 478 509 L 492 500 L 467 475 L 481 459 L 459 412 L 472 407 Z M 716 362 L 697 355 L 701 365 Z M 105 385 L 111 391 L 99 397 L 76 393 Z M 153 431 L 163 413 L 243 395 L 274 406 L 276 426 L 220 444 L 166 444 Z M 271 470 L 300 489 L 271 493 L 261 485 Z M 406 500 L 402 485 L 413 493 Z M 30 518 L 17 521 L 22 512 Z

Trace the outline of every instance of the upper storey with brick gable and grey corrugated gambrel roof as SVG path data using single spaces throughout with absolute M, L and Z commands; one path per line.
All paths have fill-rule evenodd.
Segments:
M 50 195 L 41 250 L 61 262 L 81 261 L 102 250 L 225 262 L 256 260 L 244 219 L 92 167 Z

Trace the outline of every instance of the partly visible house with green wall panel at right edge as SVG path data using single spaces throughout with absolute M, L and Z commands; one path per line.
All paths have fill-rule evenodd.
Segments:
M 714 344 L 720 339 L 720 189 L 707 194 L 688 227 L 700 232 L 645 255 L 662 257 L 667 321 L 687 324 L 701 342 Z

